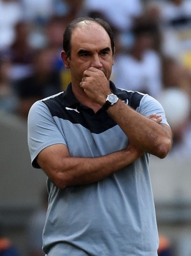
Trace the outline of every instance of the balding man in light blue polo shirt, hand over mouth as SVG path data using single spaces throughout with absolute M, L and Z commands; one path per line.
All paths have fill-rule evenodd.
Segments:
M 151 96 L 110 82 L 110 26 L 81 18 L 64 33 L 71 84 L 29 112 L 32 165 L 48 176 L 48 256 L 157 256 L 148 156 L 164 158 L 171 130 Z M 128 81 L 127 81 L 128 83 Z

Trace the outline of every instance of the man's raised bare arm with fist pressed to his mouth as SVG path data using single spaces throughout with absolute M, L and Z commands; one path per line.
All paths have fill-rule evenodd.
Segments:
M 101 70 L 89 68 L 84 72 L 80 84 L 92 102 L 103 105 L 106 95 L 111 93 L 110 86 Z M 142 151 L 164 158 L 172 146 L 171 129 L 165 124 L 139 114 L 121 100 L 107 110 L 108 114 L 124 130 L 129 140 Z

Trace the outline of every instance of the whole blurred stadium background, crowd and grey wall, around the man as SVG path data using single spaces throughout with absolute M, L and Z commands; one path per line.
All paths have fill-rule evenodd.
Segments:
M 60 59 L 62 33 L 81 15 L 103 17 L 114 29 L 115 84 L 151 94 L 166 110 L 173 150 L 164 160 L 151 156 L 150 163 L 159 234 L 167 237 L 171 256 L 191 256 L 190 0 L 0 0 L 4 236 L 20 255 L 37 255 L 32 254 L 29 223 L 43 207 L 46 177 L 31 167 L 27 114 L 33 102 L 66 88 L 69 73 Z

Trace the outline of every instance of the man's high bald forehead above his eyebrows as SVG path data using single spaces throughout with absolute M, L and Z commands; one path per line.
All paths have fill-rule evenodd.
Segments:
M 73 47 L 110 47 L 110 36 L 101 25 L 92 21 L 83 21 L 73 29 L 71 34 L 71 49 Z

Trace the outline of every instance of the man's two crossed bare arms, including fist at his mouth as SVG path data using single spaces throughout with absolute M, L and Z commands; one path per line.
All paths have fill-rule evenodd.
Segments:
M 103 105 L 106 94 L 111 93 L 102 73 L 93 69 L 93 74 L 85 74 L 85 81 L 80 84 L 88 98 L 99 105 Z M 94 183 L 130 165 L 145 152 L 164 158 L 171 149 L 171 129 L 160 124 L 160 116 L 142 116 L 121 100 L 107 112 L 124 130 L 130 140 L 129 146 L 97 158 L 70 157 L 64 144 L 46 147 L 39 153 L 37 162 L 55 186 L 66 188 Z

